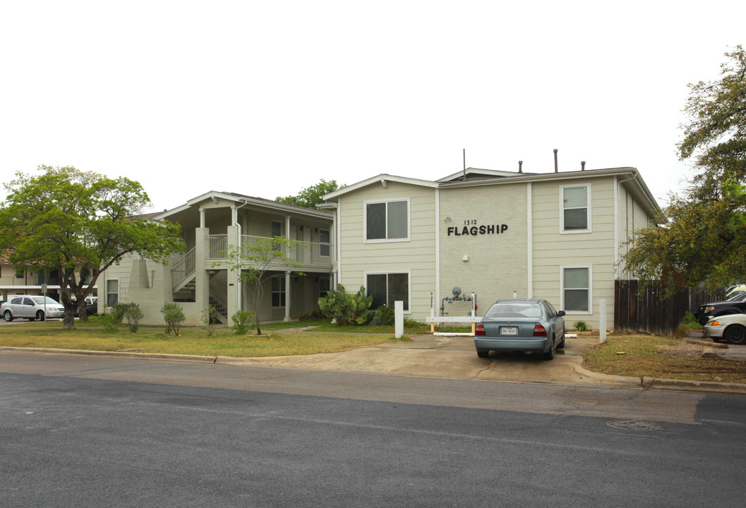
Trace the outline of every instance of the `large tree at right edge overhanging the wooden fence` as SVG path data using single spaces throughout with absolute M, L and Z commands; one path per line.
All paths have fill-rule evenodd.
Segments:
M 677 146 L 695 170 L 689 186 L 622 257 L 633 275 L 662 280 L 669 294 L 746 277 L 746 52 L 737 46 L 725 56 L 720 79 L 689 84 Z

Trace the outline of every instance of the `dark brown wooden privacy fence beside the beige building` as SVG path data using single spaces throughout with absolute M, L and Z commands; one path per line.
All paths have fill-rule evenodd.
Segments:
M 663 298 L 662 283 L 652 283 L 640 292 L 638 280 L 615 280 L 614 328 L 671 335 L 681 324 L 686 311 L 695 313 L 701 304 L 724 299 L 724 289 L 712 292 L 690 287 Z

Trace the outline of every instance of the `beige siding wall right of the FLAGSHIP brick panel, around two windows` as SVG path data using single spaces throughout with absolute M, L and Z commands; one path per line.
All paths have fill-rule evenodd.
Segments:
M 560 186 L 590 184 L 590 233 L 560 233 Z M 533 296 L 562 306 L 560 267 L 592 267 L 592 311 L 568 313 L 568 326 L 583 320 L 598 327 L 598 305 L 606 300 L 606 323 L 612 326 L 615 280 L 614 178 L 579 178 L 533 184 Z

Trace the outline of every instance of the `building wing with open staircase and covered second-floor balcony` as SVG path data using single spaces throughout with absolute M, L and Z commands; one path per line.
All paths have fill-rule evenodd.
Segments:
M 333 216 L 262 198 L 233 192 L 207 192 L 184 206 L 156 214 L 154 220 L 181 225 L 186 254 L 172 257 L 167 265 L 136 256 L 111 266 L 101 275 L 104 287 L 99 312 L 105 305 L 132 301 L 140 305 L 145 324 L 162 324 L 160 308 L 176 301 L 184 308 L 185 324 L 201 324 L 201 316 L 213 305 L 221 322 L 230 322 L 238 310 L 254 310 L 238 272 L 228 269 L 229 245 L 247 245 L 254 237 L 283 236 L 298 242 L 289 257 L 300 269 L 272 266 L 264 286 L 260 319 L 298 319 L 313 311 L 319 295 L 330 287 L 333 269 Z M 305 276 L 296 276 L 298 270 Z

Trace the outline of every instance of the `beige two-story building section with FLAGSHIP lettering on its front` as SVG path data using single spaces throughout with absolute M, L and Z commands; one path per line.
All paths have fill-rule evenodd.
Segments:
M 454 286 L 499 298 L 547 298 L 570 323 L 613 326 L 618 261 L 660 212 L 635 168 L 531 174 L 466 169 L 438 181 L 377 175 L 325 196 L 336 218 L 335 280 L 366 286 L 374 307 L 404 301 L 436 315 Z M 466 316 L 465 302 L 445 313 Z

